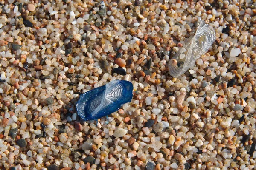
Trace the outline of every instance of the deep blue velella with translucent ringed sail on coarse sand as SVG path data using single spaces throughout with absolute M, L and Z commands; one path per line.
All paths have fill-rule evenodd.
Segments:
M 76 104 L 77 114 L 86 120 L 96 120 L 117 111 L 131 102 L 133 85 L 129 81 L 114 80 L 80 95 Z

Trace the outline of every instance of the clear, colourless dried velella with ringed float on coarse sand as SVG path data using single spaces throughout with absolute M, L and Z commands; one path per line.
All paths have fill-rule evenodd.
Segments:
M 168 68 L 172 77 L 178 77 L 191 68 L 215 41 L 214 29 L 204 21 L 198 26 L 195 36 L 170 59 Z

